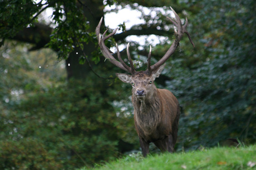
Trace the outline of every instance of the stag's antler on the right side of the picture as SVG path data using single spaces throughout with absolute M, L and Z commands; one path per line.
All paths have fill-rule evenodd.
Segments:
M 165 63 L 166 60 L 168 60 L 170 58 L 170 56 L 174 53 L 174 51 L 178 47 L 180 39 L 181 39 L 181 37 L 184 33 L 186 33 L 188 35 L 190 43 L 195 48 L 195 44 L 193 43 L 188 31 L 186 30 L 186 27 L 188 26 L 188 19 L 186 18 L 186 23 L 184 25 L 182 25 L 180 17 L 178 16 L 178 14 L 174 11 L 173 8 L 171 8 L 171 11 L 173 11 L 173 13 L 175 14 L 176 19 L 171 19 L 169 17 L 167 17 L 167 18 L 175 25 L 175 27 L 178 28 L 178 31 L 176 33 L 176 39 L 174 40 L 173 44 L 171 44 L 171 47 L 168 49 L 168 51 L 165 53 L 165 55 L 159 61 L 157 61 L 156 64 L 151 65 L 151 66 L 150 66 L 150 58 L 151 58 L 150 55 L 151 54 L 149 54 L 149 57 L 147 59 L 147 70 L 146 70 L 149 73 L 151 73 L 152 71 L 157 70 L 161 65 L 163 65 Z M 151 53 L 151 47 L 150 47 L 150 53 Z

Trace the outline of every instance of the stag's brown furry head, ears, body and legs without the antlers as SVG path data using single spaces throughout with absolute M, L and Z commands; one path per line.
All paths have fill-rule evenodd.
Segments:
M 145 71 L 135 75 L 117 74 L 120 80 L 131 83 L 135 128 L 142 153 L 149 153 L 149 143 L 161 151 L 174 152 L 180 116 L 179 102 L 169 90 L 157 89 L 154 80 L 163 68 L 151 75 Z M 139 92 L 138 92 L 139 91 Z M 143 93 L 142 93 L 143 91 Z M 141 95 L 138 95 L 141 93 Z

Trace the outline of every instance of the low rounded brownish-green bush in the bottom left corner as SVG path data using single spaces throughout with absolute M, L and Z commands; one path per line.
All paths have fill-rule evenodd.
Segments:
M 32 139 L 0 141 L 0 169 L 61 169 L 56 155 Z

